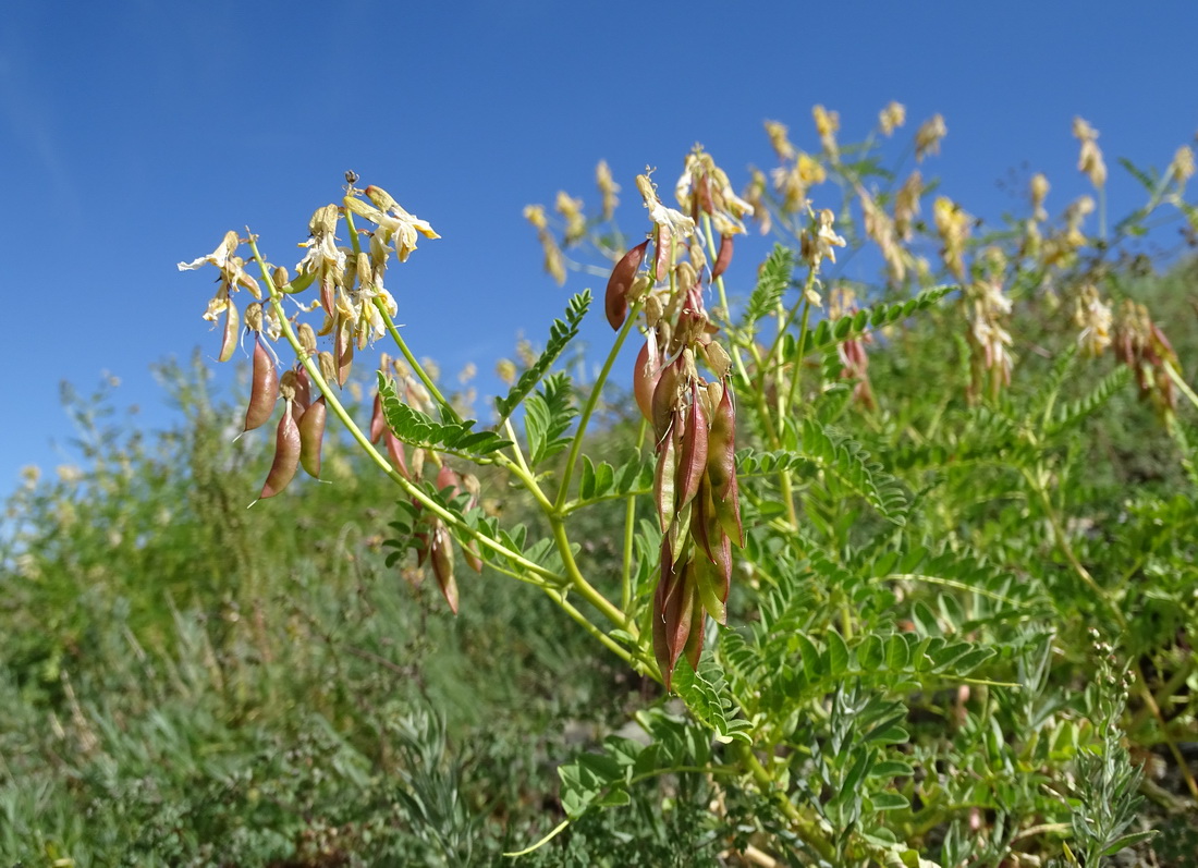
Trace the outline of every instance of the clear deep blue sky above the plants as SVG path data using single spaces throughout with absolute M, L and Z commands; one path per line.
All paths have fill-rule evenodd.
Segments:
M 924 172 L 968 211 L 1016 208 L 998 182 L 1025 165 L 1059 213 L 1087 189 L 1082 115 L 1118 216 L 1136 188 L 1114 158 L 1163 168 L 1198 129 L 1193 0 L 43 0 L 4 18 L 4 492 L 23 465 L 71 461 L 63 380 L 90 391 L 111 372 L 141 425 L 169 425 L 150 365 L 219 342 L 200 320 L 216 272 L 175 263 L 248 224 L 292 266 L 346 169 L 442 235 L 388 287 L 410 344 L 452 375 L 490 370 L 520 329 L 540 340 L 568 291 L 601 292 L 545 277 L 521 218 L 563 188 L 593 202 L 599 158 L 627 205 L 635 174 L 672 183 L 696 141 L 740 188 L 773 165 L 763 120 L 817 151 L 815 103 L 851 141 L 897 99 L 908 133 L 944 115 Z

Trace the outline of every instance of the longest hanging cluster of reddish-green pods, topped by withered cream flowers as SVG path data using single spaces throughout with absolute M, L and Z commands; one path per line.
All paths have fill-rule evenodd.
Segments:
M 697 667 L 708 615 L 727 623 L 732 546 L 744 545 L 736 475 L 736 405 L 728 386 L 731 360 L 713 340 L 718 333 L 703 304 L 703 275 L 713 278 L 731 259 L 732 238 L 708 268 L 702 248 L 685 244 L 712 198 L 691 200 L 695 217 L 664 208 L 646 176 L 637 178 L 654 213 L 651 239 L 616 265 L 607 284 L 609 322 L 621 328 L 629 303 L 643 302 L 646 344 L 633 377 L 636 402 L 652 424 L 657 467 L 654 505 L 661 527 L 661 557 L 653 596 L 653 651 L 668 690 L 685 655 Z M 660 219 L 659 219 L 660 218 Z M 646 273 L 642 262 L 655 244 Z M 688 260 L 677 261 L 685 251 Z M 700 374 L 700 364 L 713 375 Z

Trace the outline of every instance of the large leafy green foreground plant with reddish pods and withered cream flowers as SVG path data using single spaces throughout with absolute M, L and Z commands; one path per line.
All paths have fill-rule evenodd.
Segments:
M 513 856 L 552 858 L 571 823 L 634 802 L 689 805 L 701 820 L 679 852 L 713 864 L 1094 866 L 1149 845 L 1142 799 L 1162 788 L 1136 763 L 1184 783 L 1157 797 L 1162 814 L 1198 799 L 1182 743 L 1194 435 L 1179 396 L 1198 399 L 1123 256 L 1161 216 L 1196 230 L 1192 154 L 1136 170 L 1146 204 L 1108 229 L 1097 133 L 1078 121 L 1097 207 L 1087 195 L 1051 220 L 1036 175 L 1029 214 L 990 229 L 910 165 L 938 152 L 939 116 L 883 168 L 904 114 L 887 107 L 849 145 L 816 107 L 811 152 L 767 123 L 776 166 L 739 193 L 696 147 L 672 187 L 635 177 L 630 238 L 605 164 L 598 213 L 558 195 L 561 235 L 530 206 L 555 278 L 606 277 L 615 339 L 593 381 L 558 366 L 592 304 L 573 296 L 539 356 L 501 364 L 510 389 L 486 419 L 442 394 L 394 323 L 388 268 L 438 236 L 381 188 L 349 175 L 294 274 L 249 230 L 181 263 L 219 269 L 205 316 L 223 324 L 220 358 L 242 323 L 250 336 L 244 427 L 278 414 L 261 498 L 301 467 L 320 477 L 335 420 L 397 486 L 392 563 L 415 553 L 454 612 L 470 605 L 459 564 L 531 584 L 597 654 L 660 685 L 639 738 L 559 769 L 562 814 Z M 733 251 L 758 231 L 776 243 L 742 271 Z M 855 256 L 876 284 L 843 277 Z M 398 356 L 377 359 L 373 418 L 355 419 L 341 387 L 380 339 Z M 1087 479 L 1099 421 L 1132 384 L 1188 506 L 1103 502 Z M 613 387 L 640 413 L 601 432 L 605 455 L 612 437 L 622 453 L 601 460 Z M 489 508 L 513 490 L 536 521 Z M 597 533 L 610 563 L 582 545 Z M 1138 581 L 1166 564 L 1168 581 Z

